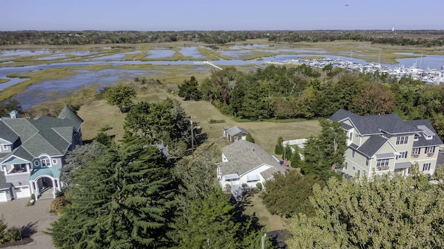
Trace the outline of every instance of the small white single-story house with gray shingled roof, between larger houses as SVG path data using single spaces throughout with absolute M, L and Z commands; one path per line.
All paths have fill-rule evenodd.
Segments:
M 235 197 L 241 194 L 242 184 L 256 187 L 257 182 L 272 180 L 275 173 L 284 173 L 275 157 L 262 146 L 245 140 L 237 140 L 221 149 L 222 162 L 217 166 L 217 179 L 223 190 L 228 185 Z

